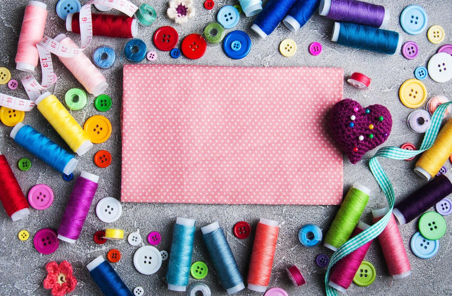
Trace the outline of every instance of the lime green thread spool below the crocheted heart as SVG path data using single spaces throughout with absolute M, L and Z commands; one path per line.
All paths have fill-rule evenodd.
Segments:
M 325 247 L 335 251 L 348 241 L 369 201 L 369 194 L 370 189 L 358 183 L 348 190 L 326 234 Z

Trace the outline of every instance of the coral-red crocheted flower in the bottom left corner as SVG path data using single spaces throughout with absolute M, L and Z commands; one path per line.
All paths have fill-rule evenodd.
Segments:
M 44 280 L 44 288 L 52 289 L 53 296 L 63 296 L 74 291 L 77 279 L 72 275 L 72 265 L 63 261 L 58 265 L 55 261 L 46 265 L 47 277 Z

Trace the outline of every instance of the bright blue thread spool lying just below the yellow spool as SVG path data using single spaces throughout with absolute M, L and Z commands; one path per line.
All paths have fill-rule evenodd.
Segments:
M 29 125 L 19 122 L 11 130 L 9 136 L 14 139 L 14 142 L 60 173 L 70 175 L 77 167 L 79 161 L 75 159 L 74 155 L 68 153 Z

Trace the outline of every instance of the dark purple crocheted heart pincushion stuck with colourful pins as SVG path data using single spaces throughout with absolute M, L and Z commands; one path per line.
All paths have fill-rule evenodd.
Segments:
M 385 106 L 363 108 L 356 101 L 344 99 L 337 102 L 331 111 L 332 135 L 353 164 L 360 161 L 367 151 L 384 143 L 391 127 L 391 113 Z

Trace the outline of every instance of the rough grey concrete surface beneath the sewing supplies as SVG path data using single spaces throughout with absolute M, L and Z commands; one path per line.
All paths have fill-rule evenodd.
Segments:
M 24 73 L 15 70 L 14 57 L 17 41 L 19 38 L 20 27 L 24 14 L 24 7 L 28 0 L 3 1 L 0 2 L 0 66 L 5 66 L 11 70 L 12 78 L 19 79 Z M 56 16 L 56 0 L 45 0 L 48 6 L 48 18 L 46 25 L 46 34 L 53 37 L 60 32 L 66 32 L 64 22 Z M 136 4 L 141 4 L 141 0 L 135 0 Z M 150 27 L 141 27 L 138 37 L 142 38 L 149 50 L 155 49 L 152 43 L 152 35 L 155 29 L 163 25 L 172 25 L 179 36 L 184 37 L 192 32 L 202 32 L 202 27 L 209 21 L 216 18 L 218 9 L 223 5 L 238 4 L 236 0 L 217 0 L 215 8 L 206 10 L 202 6 L 201 0 L 196 2 L 196 17 L 186 25 L 177 25 L 166 17 L 167 1 L 152 0 L 150 3 L 157 11 L 159 18 Z M 398 97 L 398 90 L 406 79 L 414 78 L 413 71 L 419 65 L 427 65 L 428 59 L 436 52 L 439 45 L 433 45 L 428 42 L 427 30 L 420 35 L 410 36 L 403 32 L 399 23 L 399 16 L 402 9 L 410 4 L 422 5 L 428 12 L 428 27 L 433 24 L 440 24 L 446 32 L 446 39 L 441 43 L 452 43 L 452 7 L 450 1 L 419 0 L 419 1 L 376 1 L 391 9 L 392 15 L 388 29 L 400 32 L 405 41 L 413 40 L 419 44 L 420 54 L 414 60 L 405 59 L 401 53 L 394 56 L 386 56 L 368 51 L 355 50 L 344 47 L 330 41 L 333 21 L 318 16 L 317 14 L 297 32 L 289 32 L 282 25 L 278 26 L 272 35 L 265 40 L 260 40 L 257 35 L 250 30 L 254 18 L 246 18 L 244 14 L 240 15 L 240 22 L 234 29 L 245 30 L 249 33 L 253 46 L 250 55 L 243 60 L 232 60 L 222 51 L 221 46 L 209 46 L 206 54 L 199 60 L 188 60 L 181 56 L 178 60 L 170 57 L 168 52 L 157 51 L 158 63 L 161 64 L 199 64 L 199 65 L 246 65 L 246 66 L 334 66 L 343 67 L 345 72 L 344 79 L 344 97 L 351 97 L 363 105 L 380 103 L 388 107 L 393 116 L 393 130 L 391 136 L 386 141 L 386 145 L 399 146 L 405 142 L 414 143 L 419 147 L 422 135 L 412 133 L 407 125 L 406 118 L 410 109 L 403 106 Z M 94 11 L 94 9 L 93 9 Z M 231 31 L 227 30 L 228 32 Z M 78 42 L 78 36 L 72 33 L 68 34 Z M 283 57 L 279 51 L 279 43 L 285 38 L 292 38 L 297 42 L 298 50 L 295 56 L 291 58 Z M 311 56 L 308 52 L 308 46 L 311 42 L 318 41 L 323 45 L 323 52 L 320 56 Z M 12 222 L 5 211 L 0 210 L 1 219 L 1 240 L 0 240 L 0 295 L 50 295 L 50 291 L 42 287 L 42 281 L 46 276 L 45 264 L 49 261 L 68 260 L 74 267 L 75 276 L 78 279 L 78 285 L 75 291 L 69 295 L 101 295 L 99 288 L 89 277 L 85 265 L 99 255 L 106 256 L 108 250 L 116 248 L 121 251 L 121 260 L 113 264 L 118 274 L 122 277 L 127 286 L 133 290 L 134 287 L 142 286 L 145 289 L 145 295 L 183 295 L 167 291 L 165 288 L 165 273 L 168 261 L 164 261 L 162 268 L 153 275 L 142 275 L 138 273 L 132 263 L 135 250 L 127 241 L 108 241 L 104 245 L 96 245 L 92 239 L 95 231 L 102 229 L 107 224 L 101 222 L 95 215 L 95 204 L 106 197 L 113 196 L 120 198 L 120 179 L 121 179 L 121 134 L 119 115 L 122 100 L 122 65 L 126 62 L 121 60 L 120 52 L 126 40 L 111 39 L 106 37 L 94 37 L 93 44 L 85 51 L 90 56 L 94 49 L 103 44 L 113 46 L 116 50 L 118 59 L 110 69 L 103 69 L 102 72 L 107 77 L 110 87 L 107 94 L 113 98 L 113 107 L 106 112 L 105 116 L 109 118 L 113 125 L 113 134 L 107 142 L 97 144 L 93 149 L 79 159 L 79 166 L 75 175 L 79 175 L 81 170 L 86 170 L 101 176 L 99 181 L 99 190 L 94 198 L 94 203 L 85 222 L 83 233 L 76 244 L 72 245 L 61 242 L 60 247 L 55 253 L 42 255 L 33 247 L 33 236 L 41 228 L 50 227 L 56 229 L 59 225 L 61 214 L 66 206 L 69 193 L 74 185 L 74 180 L 65 182 L 59 173 L 39 161 L 33 155 L 24 151 L 9 138 L 11 128 L 0 125 L 0 150 L 5 153 L 14 173 L 19 179 L 19 183 L 27 194 L 28 190 L 35 184 L 45 183 L 52 187 L 55 193 L 55 200 L 50 208 L 43 211 L 31 209 L 31 215 L 18 221 Z M 179 42 L 180 46 L 180 42 Z M 59 98 L 69 88 L 81 87 L 72 74 L 54 56 L 54 63 L 58 82 L 55 88 L 51 89 Z M 143 60 L 141 63 L 149 63 Z M 367 74 L 372 78 L 372 84 L 369 91 L 358 91 L 346 83 L 346 78 L 354 71 Z M 40 70 L 37 76 L 40 76 Z M 180 78 L 183 82 L 184 77 Z M 290 77 L 287 77 L 290 79 Z M 437 94 L 445 94 L 452 97 L 452 83 L 436 83 L 432 79 L 424 80 L 428 89 L 428 98 Z M 189 87 L 189 86 L 187 86 Z M 206 87 L 211 87 L 207 85 Z M 9 93 L 15 96 L 25 97 L 24 89 L 19 87 L 11 91 L 6 85 L 0 85 L 0 92 Z M 424 108 L 424 106 L 423 106 Z M 99 114 L 94 108 L 94 97 L 89 96 L 88 104 L 80 111 L 72 111 L 75 119 L 83 125 L 89 116 Z M 32 125 L 41 133 L 47 135 L 62 147 L 68 149 L 66 143 L 56 134 L 55 130 L 47 123 L 42 115 L 34 109 L 26 114 L 24 123 Z M 113 163 L 110 167 L 101 169 L 95 166 L 93 162 L 94 153 L 98 150 L 106 149 L 113 156 Z M 69 150 L 69 149 L 68 149 Z M 344 159 L 344 193 L 353 184 L 358 181 L 372 189 L 371 199 L 363 214 L 363 221 L 371 223 L 370 211 L 374 208 L 386 205 L 381 190 L 372 177 L 368 169 L 368 159 L 375 151 L 365 155 L 363 161 L 356 165 L 351 165 L 348 159 Z M 33 166 L 29 171 L 19 171 L 16 166 L 21 157 L 28 157 L 32 160 Z M 410 192 L 416 190 L 424 182 L 416 176 L 412 168 L 414 161 L 390 161 L 382 160 L 386 172 L 391 177 L 395 186 L 397 199 L 401 199 Z M 450 163 L 446 166 L 450 169 Z M 146 178 L 145 175 L 141 176 Z M 317 254 L 332 254 L 323 246 L 312 249 L 303 247 L 297 239 L 299 228 L 305 223 L 316 223 L 322 228 L 324 235 L 334 218 L 338 209 L 337 206 L 268 206 L 268 205 L 202 205 L 202 204 L 122 204 L 123 212 L 121 218 L 108 225 L 110 227 L 121 227 L 126 235 L 132 231 L 140 229 L 141 234 L 146 238 L 150 231 L 160 231 L 163 240 L 158 245 L 159 250 L 170 250 L 172 228 L 175 218 L 178 216 L 192 217 L 197 220 L 197 226 L 202 227 L 213 221 L 218 221 L 224 227 L 228 241 L 234 251 L 240 270 L 246 278 L 248 263 L 252 249 L 253 236 L 246 240 L 238 240 L 232 234 L 232 227 L 235 222 L 245 220 L 255 227 L 259 217 L 268 217 L 280 222 L 281 231 L 278 238 L 278 246 L 273 264 L 273 273 L 270 287 L 282 287 L 287 290 L 289 295 L 322 295 L 325 292 L 324 275 L 325 268 L 319 268 L 314 263 Z M 452 215 L 446 217 L 450 226 Z M 377 269 L 377 279 L 369 287 L 358 287 L 354 284 L 348 289 L 349 295 L 452 295 L 451 280 L 452 271 L 450 267 L 450 254 L 452 232 L 447 229 L 447 233 L 441 241 L 440 250 L 432 259 L 419 259 L 410 250 L 410 238 L 417 230 L 416 222 L 411 222 L 400 231 L 403 235 L 405 248 L 408 251 L 413 274 L 403 280 L 392 280 L 388 274 L 386 263 L 381 254 L 381 248 L 378 242 L 372 244 L 366 260 L 372 262 Z M 17 234 L 20 230 L 27 229 L 30 232 L 31 239 L 28 241 L 19 241 Z M 146 243 L 147 244 L 147 243 Z M 203 280 L 212 289 L 213 295 L 226 295 L 216 278 L 212 261 L 207 250 L 202 243 L 201 231 L 197 231 L 195 246 L 193 252 L 193 261 L 202 260 L 209 266 L 209 273 Z M 307 280 L 304 287 L 296 288 L 288 280 L 284 268 L 289 264 L 297 264 Z M 190 283 L 195 282 L 190 278 Z M 241 291 L 236 295 L 259 295 L 259 293 L 249 290 Z

